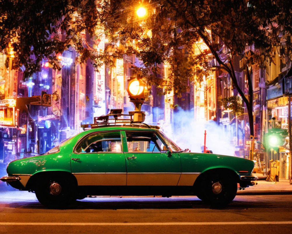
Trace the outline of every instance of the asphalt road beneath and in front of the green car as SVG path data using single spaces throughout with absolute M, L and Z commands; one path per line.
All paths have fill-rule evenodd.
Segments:
M 197 197 L 95 197 L 45 209 L 34 194 L 0 193 L 0 233 L 291 233 L 292 195 L 239 195 L 224 209 Z

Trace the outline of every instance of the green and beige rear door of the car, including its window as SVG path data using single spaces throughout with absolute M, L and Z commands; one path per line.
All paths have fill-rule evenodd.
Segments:
M 126 185 L 121 132 L 94 132 L 83 137 L 71 155 L 71 171 L 78 185 Z

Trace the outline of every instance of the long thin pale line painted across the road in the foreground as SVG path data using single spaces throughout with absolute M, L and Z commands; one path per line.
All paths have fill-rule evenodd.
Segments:
M 166 225 L 259 225 L 259 224 L 292 224 L 292 221 L 264 222 L 169 222 L 169 223 L 18 223 L 0 222 L 0 226 L 33 225 L 33 226 L 166 226 Z

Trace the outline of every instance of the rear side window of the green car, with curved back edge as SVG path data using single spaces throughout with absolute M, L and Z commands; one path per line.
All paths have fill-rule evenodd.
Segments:
M 99 132 L 86 136 L 75 153 L 122 152 L 120 132 Z

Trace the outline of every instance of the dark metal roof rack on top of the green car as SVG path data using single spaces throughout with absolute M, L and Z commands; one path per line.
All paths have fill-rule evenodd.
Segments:
M 108 115 L 94 117 L 93 124 L 81 124 L 81 128 L 83 130 L 93 129 L 93 128 L 103 128 L 103 127 L 112 127 L 112 126 L 138 126 L 138 127 L 147 127 L 147 128 L 155 128 L 159 129 L 158 126 L 148 125 L 143 122 L 135 122 L 133 121 L 134 114 L 122 114 L 121 109 L 111 110 Z M 125 117 L 130 118 L 125 118 Z M 123 118 L 120 118 L 123 117 Z

